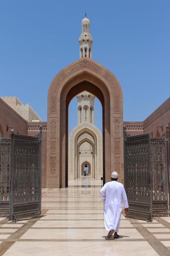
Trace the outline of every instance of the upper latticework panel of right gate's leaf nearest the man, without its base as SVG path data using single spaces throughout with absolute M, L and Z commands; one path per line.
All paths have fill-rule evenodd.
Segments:
M 126 144 L 126 193 L 130 201 L 150 202 L 149 139 L 143 136 Z

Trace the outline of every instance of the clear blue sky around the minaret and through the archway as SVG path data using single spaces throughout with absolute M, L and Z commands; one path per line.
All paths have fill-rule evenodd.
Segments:
M 53 77 L 79 58 L 85 9 L 92 59 L 118 78 L 124 120 L 144 120 L 170 96 L 170 0 L 0 0 L 0 95 L 17 95 L 47 120 Z

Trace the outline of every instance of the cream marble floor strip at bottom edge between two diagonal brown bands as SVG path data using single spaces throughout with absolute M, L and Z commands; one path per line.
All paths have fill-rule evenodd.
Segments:
M 110 253 L 111 252 L 111 253 Z M 128 252 L 128 254 L 127 254 Z M 16 242 L 3 256 L 158 256 L 142 242 Z

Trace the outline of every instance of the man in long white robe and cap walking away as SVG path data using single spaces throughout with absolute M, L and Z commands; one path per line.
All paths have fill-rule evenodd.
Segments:
M 119 237 L 118 231 L 120 226 L 120 218 L 122 211 L 122 201 L 125 207 L 125 211 L 128 211 L 128 199 L 126 196 L 125 188 L 123 184 L 118 182 L 118 173 L 112 172 L 110 182 L 107 182 L 101 188 L 101 197 L 104 205 L 104 219 L 105 219 L 105 228 L 109 230 L 108 238 Z

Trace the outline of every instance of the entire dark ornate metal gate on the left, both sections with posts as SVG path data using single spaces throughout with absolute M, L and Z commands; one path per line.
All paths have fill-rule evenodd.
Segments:
M 14 134 L 0 139 L 0 212 L 9 220 L 41 213 L 41 140 Z

